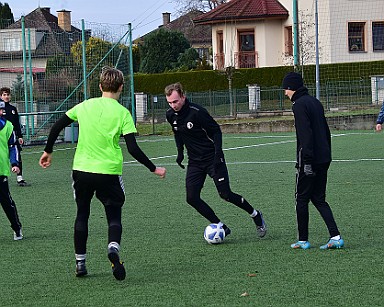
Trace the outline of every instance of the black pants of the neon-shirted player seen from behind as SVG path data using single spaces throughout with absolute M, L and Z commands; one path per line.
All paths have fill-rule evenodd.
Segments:
M 121 176 L 72 172 L 77 215 L 74 226 L 75 253 L 85 254 L 88 239 L 88 219 L 94 194 L 102 202 L 107 216 L 108 243 L 120 244 L 122 225 L 121 208 L 125 201 L 125 192 Z

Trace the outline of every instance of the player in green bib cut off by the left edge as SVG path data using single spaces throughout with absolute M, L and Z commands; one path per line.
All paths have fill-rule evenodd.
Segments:
M 13 125 L 3 116 L 5 114 L 5 103 L 0 100 L 0 203 L 11 223 L 13 239 L 21 240 L 21 223 L 17 213 L 16 204 L 9 192 L 8 177 L 19 172 L 19 161 L 17 160 L 16 134 Z

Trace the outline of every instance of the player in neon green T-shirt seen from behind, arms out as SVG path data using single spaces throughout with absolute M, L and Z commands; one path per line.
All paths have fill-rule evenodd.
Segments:
M 88 219 L 93 195 L 105 207 L 108 221 L 108 258 L 116 279 L 125 279 L 125 268 L 120 261 L 122 233 L 121 208 L 125 201 L 122 181 L 123 154 L 119 146 L 123 135 L 129 153 L 151 172 L 165 177 L 166 170 L 156 167 L 137 145 L 136 128 L 129 111 L 118 99 L 123 90 L 123 73 L 104 67 L 100 75 L 102 96 L 79 103 L 68 110 L 51 128 L 39 164 L 51 165 L 53 145 L 62 129 L 72 122 L 79 123 L 78 144 L 73 160 L 73 189 L 77 204 L 74 227 L 76 276 L 87 275 L 85 265 L 88 238 Z

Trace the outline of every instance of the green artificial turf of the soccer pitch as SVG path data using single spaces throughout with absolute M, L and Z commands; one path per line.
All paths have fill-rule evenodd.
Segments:
M 318 248 L 328 233 L 313 206 L 313 248 L 290 249 L 296 239 L 293 133 L 224 135 L 232 189 L 263 211 L 269 232 L 259 239 L 247 214 L 221 200 L 208 179 L 202 196 L 232 229 L 217 246 L 204 241 L 208 222 L 185 202 L 185 171 L 175 157 L 161 158 L 175 154 L 173 138 L 139 137 L 168 173 L 160 180 L 124 149 L 123 282 L 111 274 L 107 223 L 96 199 L 89 276 L 74 275 L 73 146 L 57 145 L 46 170 L 38 166 L 43 147 L 25 148 L 24 173 L 32 186 L 20 188 L 10 179 L 25 239 L 13 241 L 2 214 L 1 306 L 381 306 L 384 135 L 334 134 L 327 199 L 346 243 L 335 251 Z M 241 296 L 245 292 L 249 296 Z

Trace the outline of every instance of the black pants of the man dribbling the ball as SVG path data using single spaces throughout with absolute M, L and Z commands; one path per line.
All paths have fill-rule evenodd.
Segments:
M 221 163 L 220 167 L 215 170 L 213 161 L 189 161 L 185 180 L 187 203 L 194 207 L 210 223 L 217 224 L 220 222 L 220 219 L 213 209 L 200 197 L 207 175 L 213 179 L 217 192 L 222 199 L 245 210 L 248 214 L 253 213 L 254 208 L 241 195 L 231 191 L 228 169 L 225 162 Z

